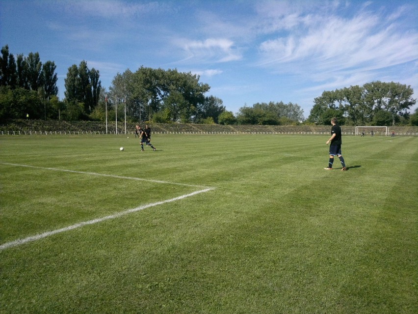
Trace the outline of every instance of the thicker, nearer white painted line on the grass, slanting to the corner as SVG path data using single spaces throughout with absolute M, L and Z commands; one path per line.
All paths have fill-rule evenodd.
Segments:
M 149 208 L 149 207 L 153 207 L 153 206 L 157 206 L 157 205 L 161 205 L 161 204 L 165 204 L 165 203 L 170 203 L 170 202 L 173 202 L 173 201 L 176 201 L 176 200 L 183 200 L 185 198 L 188 198 L 188 197 L 191 197 L 191 196 L 200 194 L 200 193 L 209 192 L 211 190 L 214 190 L 214 188 L 207 188 L 207 189 L 204 189 L 204 190 L 195 191 L 195 192 L 192 192 L 192 193 L 189 193 L 189 194 L 184 194 L 182 196 L 178 196 L 178 197 L 173 198 L 173 199 L 161 200 L 161 201 L 157 201 L 155 203 L 141 205 L 141 206 L 138 206 L 138 207 L 135 207 L 135 208 L 126 210 L 126 211 L 122 211 L 122 212 L 119 212 L 119 213 L 116 213 L 116 214 L 113 214 L 113 215 L 109 215 L 109 216 L 105 216 L 105 217 L 102 217 L 102 218 L 97 218 L 97 219 L 92 219 L 92 220 L 84 221 L 84 222 L 81 222 L 81 223 L 78 223 L 78 224 L 75 224 L 75 225 L 71 225 L 71 226 L 68 226 L 68 227 L 65 227 L 65 228 L 60 228 L 60 229 L 56 229 L 56 230 L 47 231 L 47 232 L 44 232 L 44 233 L 40 233 L 40 234 L 28 236 L 28 237 L 23 238 L 23 239 L 17 239 L 15 241 L 11 241 L 11 242 L 7 242 L 7 243 L 4 243 L 4 244 L 1 244 L 0 245 L 0 251 L 2 251 L 4 249 L 8 249 L 8 248 L 15 247 L 15 246 L 18 246 L 18 245 L 21 245 L 21 244 L 26 244 L 28 242 L 37 241 L 37 240 L 46 238 L 46 237 L 48 237 L 50 235 L 54 235 L 54 234 L 57 234 L 57 233 L 74 230 L 74 229 L 77 229 L 77 228 L 80 228 L 80 227 L 83 227 L 83 226 L 87 226 L 87 225 L 97 224 L 97 223 L 100 223 L 102 221 L 109 220 L 109 219 L 119 218 L 121 216 L 130 214 L 130 213 L 134 213 L 134 212 L 137 212 L 137 211 L 140 211 L 140 210 Z

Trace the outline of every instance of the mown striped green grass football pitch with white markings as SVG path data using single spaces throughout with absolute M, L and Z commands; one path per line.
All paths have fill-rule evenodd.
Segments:
M 328 138 L 0 137 L 0 313 L 417 313 L 418 138 Z

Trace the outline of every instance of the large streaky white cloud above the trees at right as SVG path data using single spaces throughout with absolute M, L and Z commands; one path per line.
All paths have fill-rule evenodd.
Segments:
M 295 24 L 289 33 L 260 44 L 259 66 L 279 73 L 304 74 L 312 81 L 317 81 L 318 73 L 322 73 L 324 81 L 327 75 L 328 80 L 335 77 L 337 86 L 347 83 L 341 81 L 342 77 L 353 78 L 355 82 L 357 72 L 372 76 L 367 71 L 418 58 L 418 33 L 387 24 L 385 16 L 360 12 L 352 18 L 337 15 L 300 18 L 304 25 Z M 303 32 L 301 27 L 305 28 Z

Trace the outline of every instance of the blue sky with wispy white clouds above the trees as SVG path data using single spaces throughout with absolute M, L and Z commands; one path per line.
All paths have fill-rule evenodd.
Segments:
M 0 0 L 0 44 L 54 61 L 61 99 L 81 60 L 106 89 L 141 65 L 199 74 L 233 113 L 283 101 L 308 117 L 324 90 L 377 80 L 418 97 L 416 0 Z

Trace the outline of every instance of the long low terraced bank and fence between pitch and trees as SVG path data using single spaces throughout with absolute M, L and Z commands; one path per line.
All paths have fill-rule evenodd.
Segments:
M 11 120 L 0 122 L 1 135 L 105 135 L 133 134 L 134 122 Z M 145 123 L 141 123 L 144 126 Z M 330 134 L 331 125 L 220 125 L 194 123 L 150 123 L 153 134 Z M 341 126 L 342 134 L 355 135 L 355 126 Z M 389 127 L 388 135 L 418 136 L 416 126 Z M 366 132 L 366 135 L 370 135 Z M 375 130 L 375 136 L 386 135 Z

